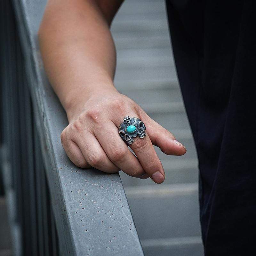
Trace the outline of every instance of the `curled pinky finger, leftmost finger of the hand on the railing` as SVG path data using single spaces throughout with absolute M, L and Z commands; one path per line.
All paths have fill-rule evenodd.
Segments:
M 63 148 L 65 149 L 68 158 L 78 167 L 80 168 L 92 168 L 90 164 L 88 164 L 84 158 L 84 155 L 82 154 L 80 148 L 77 146 L 77 144 L 69 140 L 66 145 L 63 145 Z

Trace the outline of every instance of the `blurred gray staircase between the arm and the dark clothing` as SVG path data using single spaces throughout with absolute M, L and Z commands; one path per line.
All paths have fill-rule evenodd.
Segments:
M 201 256 L 195 145 L 174 68 L 164 0 L 126 0 L 112 33 L 117 89 L 131 97 L 187 148 L 167 156 L 156 148 L 163 184 L 120 173 L 146 256 Z

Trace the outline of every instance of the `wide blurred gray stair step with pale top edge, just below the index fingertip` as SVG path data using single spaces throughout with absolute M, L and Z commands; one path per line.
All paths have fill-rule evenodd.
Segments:
M 140 239 L 201 235 L 196 183 L 132 186 L 125 193 Z

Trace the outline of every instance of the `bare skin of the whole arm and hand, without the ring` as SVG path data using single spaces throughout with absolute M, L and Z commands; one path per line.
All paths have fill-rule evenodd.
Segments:
M 109 28 L 121 4 L 119 0 L 47 3 L 38 37 L 47 76 L 68 117 L 61 142 L 78 167 L 108 173 L 122 170 L 162 183 L 165 173 L 153 145 L 176 156 L 186 149 L 113 84 L 116 50 Z M 135 138 L 131 145 L 137 157 L 118 134 L 124 116 L 139 117 L 147 127 L 146 137 Z

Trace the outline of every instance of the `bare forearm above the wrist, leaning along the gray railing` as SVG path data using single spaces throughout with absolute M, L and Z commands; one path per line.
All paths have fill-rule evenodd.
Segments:
M 39 30 L 44 68 L 67 114 L 92 93 L 116 90 L 111 17 L 95 1 L 75 3 L 49 1 Z

